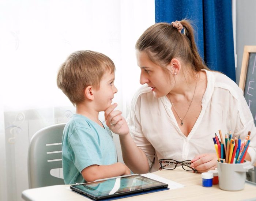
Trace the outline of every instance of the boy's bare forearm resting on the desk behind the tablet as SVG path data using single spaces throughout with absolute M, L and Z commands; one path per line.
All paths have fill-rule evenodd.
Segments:
M 81 174 L 86 182 L 93 182 L 96 179 L 117 177 L 131 174 L 129 168 L 123 163 L 114 163 L 112 165 L 91 165 L 84 168 Z

